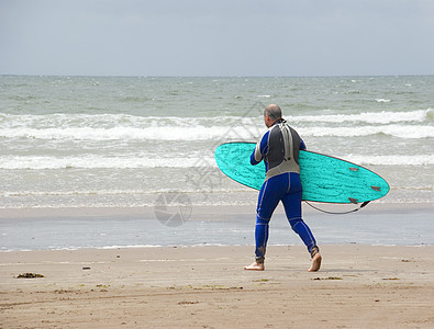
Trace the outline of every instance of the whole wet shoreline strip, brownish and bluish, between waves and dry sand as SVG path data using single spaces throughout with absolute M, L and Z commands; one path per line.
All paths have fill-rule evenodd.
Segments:
M 1 209 L 0 251 L 254 245 L 255 206 L 193 207 L 187 212 L 189 217 L 182 217 L 182 211 Z M 303 213 L 319 246 L 434 246 L 433 205 L 377 203 L 346 215 L 323 214 L 304 205 Z M 160 214 L 164 217 L 158 217 Z M 301 245 L 281 206 L 271 218 L 268 245 Z

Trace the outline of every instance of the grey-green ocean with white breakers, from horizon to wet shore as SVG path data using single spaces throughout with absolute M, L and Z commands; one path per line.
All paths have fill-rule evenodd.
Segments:
M 256 141 L 269 103 L 308 149 L 383 177 L 377 203 L 434 203 L 434 76 L 0 76 L 0 212 L 254 205 L 213 152 Z

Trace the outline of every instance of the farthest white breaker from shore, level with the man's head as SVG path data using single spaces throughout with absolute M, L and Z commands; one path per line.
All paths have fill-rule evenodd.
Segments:
M 266 97 L 266 95 L 263 95 Z M 355 114 L 322 114 L 322 115 L 293 115 L 285 116 L 294 123 L 423 123 L 433 115 L 434 110 L 416 110 L 408 112 L 363 112 Z M 96 131 L 96 134 L 107 136 L 109 134 L 126 134 L 123 131 L 136 129 L 143 134 L 152 134 L 148 128 L 181 127 L 181 128 L 226 128 L 240 125 L 238 116 L 212 116 L 212 117 L 157 117 L 134 116 L 129 114 L 49 114 L 49 115 L 13 115 L 0 114 L 1 137 L 38 137 L 44 136 L 71 136 L 74 133 L 80 135 Z M 248 124 L 263 125 L 261 117 L 243 117 Z M 64 134 L 60 132 L 65 131 Z M 26 135 L 26 133 L 29 135 Z M 107 138 L 107 137 L 104 137 Z

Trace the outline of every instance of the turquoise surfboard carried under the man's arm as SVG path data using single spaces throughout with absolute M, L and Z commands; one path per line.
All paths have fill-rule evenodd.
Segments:
M 265 164 L 251 164 L 255 143 L 225 143 L 215 149 L 220 170 L 246 186 L 260 190 Z M 300 179 L 303 200 L 324 203 L 363 203 L 385 196 L 389 184 L 361 166 L 314 151 L 300 150 Z

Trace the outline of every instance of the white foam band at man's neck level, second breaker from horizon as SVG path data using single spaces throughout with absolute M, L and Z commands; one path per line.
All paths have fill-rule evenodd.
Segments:
M 42 140 L 210 140 L 210 139 L 251 139 L 260 136 L 260 129 L 252 126 L 165 126 L 162 127 L 114 127 L 114 128 L 10 128 L 1 129 L 3 138 L 32 138 Z M 357 137 L 377 134 L 400 138 L 434 137 L 434 126 L 429 125 L 370 125 L 341 127 L 298 127 L 302 136 Z

